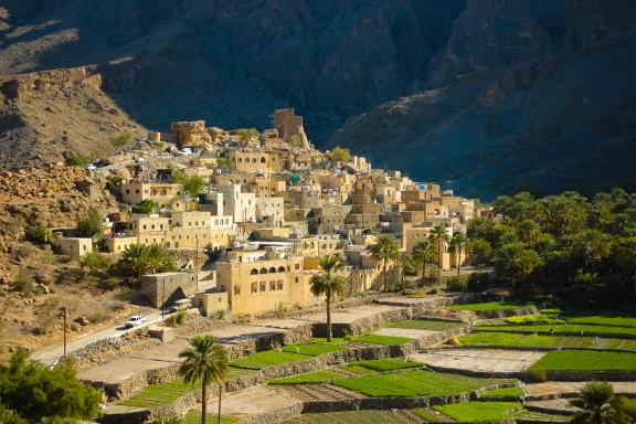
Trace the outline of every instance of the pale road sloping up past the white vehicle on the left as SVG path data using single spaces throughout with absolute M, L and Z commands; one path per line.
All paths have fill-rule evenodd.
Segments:
M 166 314 L 166 317 L 169 317 L 170 314 Z M 146 324 L 126 329 L 124 327 L 124 322 L 117 324 L 113 327 L 108 327 L 104 330 L 88 332 L 86 335 L 81 335 L 80 337 L 70 340 L 66 343 L 66 353 L 71 353 L 77 349 L 82 349 L 91 343 L 103 339 L 110 339 L 115 337 L 121 337 L 127 332 L 138 330 L 140 328 L 145 328 L 151 326 L 157 322 L 161 322 L 161 312 L 156 311 L 151 314 L 144 315 L 146 317 Z M 59 344 L 54 348 L 47 348 L 46 350 L 40 350 L 33 354 L 33 359 L 44 363 L 45 365 L 53 365 L 64 354 L 64 344 Z

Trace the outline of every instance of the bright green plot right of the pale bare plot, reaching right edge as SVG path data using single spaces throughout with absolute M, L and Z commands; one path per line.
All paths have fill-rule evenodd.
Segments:
M 553 351 L 537 361 L 528 371 L 636 371 L 636 353 Z

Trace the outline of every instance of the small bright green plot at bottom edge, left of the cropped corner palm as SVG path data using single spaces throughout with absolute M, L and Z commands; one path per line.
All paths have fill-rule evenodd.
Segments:
M 433 406 L 459 423 L 499 422 L 521 409 L 519 402 L 466 402 Z

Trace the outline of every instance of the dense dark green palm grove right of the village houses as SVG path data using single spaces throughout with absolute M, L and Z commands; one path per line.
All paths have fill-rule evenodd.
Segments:
M 621 189 L 593 199 L 568 191 L 500 197 L 497 219 L 475 219 L 468 246 L 478 265 L 519 295 L 583 307 L 636 301 L 636 194 Z

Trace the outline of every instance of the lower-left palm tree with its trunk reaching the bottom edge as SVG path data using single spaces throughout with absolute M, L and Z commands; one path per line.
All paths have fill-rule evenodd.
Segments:
M 221 382 L 227 375 L 227 352 L 216 343 L 212 336 L 194 336 L 190 340 L 190 349 L 179 353 L 186 360 L 179 367 L 179 374 L 186 383 L 194 385 L 201 381 L 201 424 L 205 424 L 208 414 L 208 384 L 215 381 L 219 384 L 219 424 L 221 424 Z

